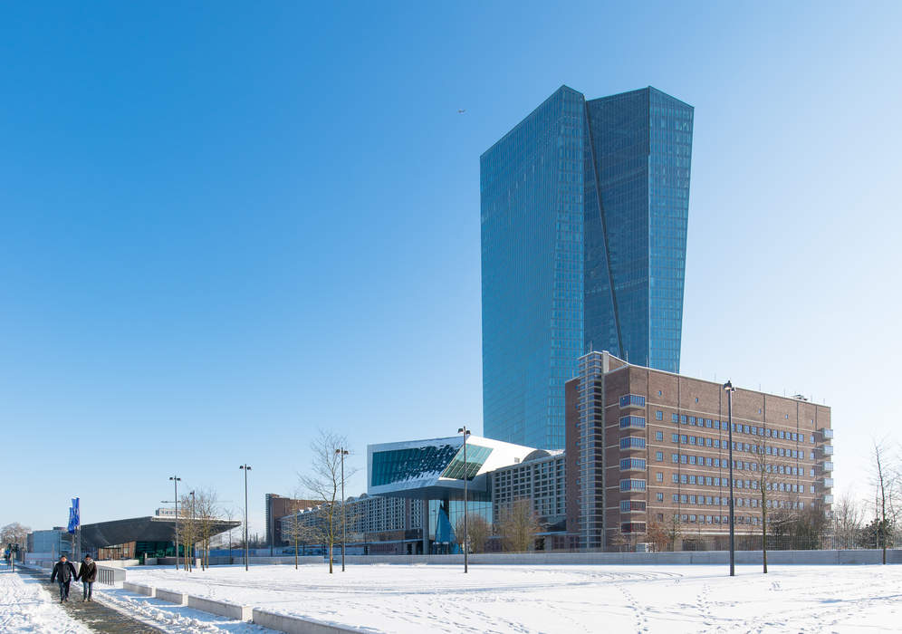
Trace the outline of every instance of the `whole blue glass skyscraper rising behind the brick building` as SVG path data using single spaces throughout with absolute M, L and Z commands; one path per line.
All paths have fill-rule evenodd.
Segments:
M 692 122 L 561 86 L 480 158 L 485 437 L 563 448 L 590 349 L 679 371 Z

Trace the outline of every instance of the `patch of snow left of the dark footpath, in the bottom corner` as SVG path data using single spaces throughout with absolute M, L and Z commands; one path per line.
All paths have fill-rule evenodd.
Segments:
M 40 581 L 9 569 L 0 571 L 0 632 L 88 634 Z

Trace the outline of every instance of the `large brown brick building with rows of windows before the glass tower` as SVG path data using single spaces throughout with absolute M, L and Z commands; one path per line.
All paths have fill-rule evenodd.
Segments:
M 647 542 L 652 525 L 668 524 L 678 526 L 684 542 L 723 543 L 729 532 L 723 385 L 590 352 L 580 358 L 565 395 L 573 545 Z M 773 511 L 829 512 L 829 407 L 736 389 L 733 424 L 737 533 L 760 531 L 762 480 Z

